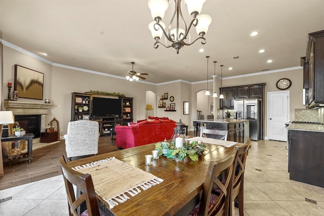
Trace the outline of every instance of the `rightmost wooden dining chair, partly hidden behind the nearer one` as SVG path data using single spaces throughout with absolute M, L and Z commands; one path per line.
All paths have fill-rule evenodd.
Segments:
M 237 198 L 238 212 L 240 216 L 244 215 L 244 170 L 247 163 L 248 151 L 251 148 L 251 140 L 248 139 L 246 144 L 237 145 L 235 163 L 234 163 L 234 178 L 232 180 L 231 188 L 231 202 L 229 206 L 230 212 L 232 211 L 233 201 Z M 231 214 L 230 214 L 231 215 Z

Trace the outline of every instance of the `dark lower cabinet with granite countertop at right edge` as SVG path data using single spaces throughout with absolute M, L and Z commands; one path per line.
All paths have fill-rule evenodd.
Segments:
M 324 125 L 292 123 L 287 128 L 290 179 L 324 187 Z

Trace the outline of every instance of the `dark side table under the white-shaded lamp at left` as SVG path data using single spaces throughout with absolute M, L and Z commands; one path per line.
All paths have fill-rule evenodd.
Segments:
M 2 137 L 1 142 L 28 140 L 28 144 L 27 144 L 28 150 L 26 153 L 22 153 L 17 156 L 13 156 L 13 157 L 6 157 L 4 159 L 4 163 L 13 162 L 13 161 L 23 161 L 23 160 L 28 160 L 28 163 L 30 163 L 32 161 L 32 138 L 33 137 L 34 137 L 34 135 L 32 133 L 28 133 L 21 137 L 17 137 L 15 135 L 10 135 L 9 137 Z

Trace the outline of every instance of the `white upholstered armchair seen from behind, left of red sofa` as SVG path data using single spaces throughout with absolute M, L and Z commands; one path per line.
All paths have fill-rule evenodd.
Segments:
M 64 135 L 68 160 L 71 157 L 98 154 L 99 123 L 90 120 L 70 121 Z

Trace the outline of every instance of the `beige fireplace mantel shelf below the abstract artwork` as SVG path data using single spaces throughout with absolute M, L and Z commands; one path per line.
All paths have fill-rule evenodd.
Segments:
M 4 106 L 14 115 L 46 115 L 54 104 L 39 104 L 21 101 L 4 101 Z

